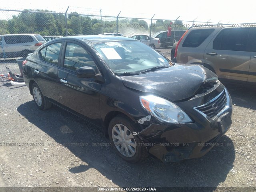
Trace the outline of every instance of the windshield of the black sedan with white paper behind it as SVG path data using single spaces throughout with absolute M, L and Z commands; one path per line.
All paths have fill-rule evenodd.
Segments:
M 94 49 L 117 75 L 172 65 L 164 56 L 140 41 L 106 42 L 95 44 Z

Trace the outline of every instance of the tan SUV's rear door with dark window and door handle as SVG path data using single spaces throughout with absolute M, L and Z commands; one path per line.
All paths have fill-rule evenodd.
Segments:
M 223 28 L 204 51 L 203 62 L 219 76 L 246 83 L 250 66 L 250 28 Z

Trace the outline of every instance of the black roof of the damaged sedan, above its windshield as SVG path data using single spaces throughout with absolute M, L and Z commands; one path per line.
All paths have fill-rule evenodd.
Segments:
M 66 36 L 58 38 L 61 39 L 70 39 L 70 40 L 82 40 L 84 42 L 90 42 L 92 44 L 105 43 L 105 42 L 115 42 L 115 41 L 134 41 L 135 39 L 124 37 L 124 36 L 108 36 L 108 35 L 79 35 L 79 36 Z

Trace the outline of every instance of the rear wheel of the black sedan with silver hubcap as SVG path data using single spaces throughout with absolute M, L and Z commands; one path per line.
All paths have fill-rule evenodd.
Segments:
M 32 94 L 33 94 L 34 102 L 36 103 L 36 106 L 40 110 L 46 110 L 51 108 L 52 103 L 50 103 L 44 98 L 44 95 L 42 94 L 40 88 L 36 83 L 32 85 Z

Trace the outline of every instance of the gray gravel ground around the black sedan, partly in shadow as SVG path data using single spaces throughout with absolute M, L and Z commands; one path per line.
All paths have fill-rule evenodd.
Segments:
M 26 86 L 0 78 L 0 186 L 200 186 L 211 191 L 251 186 L 241 191 L 255 191 L 256 88 L 226 86 L 233 124 L 219 146 L 181 163 L 164 164 L 150 156 L 130 164 L 92 124 L 55 106 L 40 111 Z

